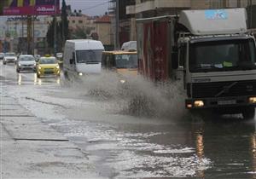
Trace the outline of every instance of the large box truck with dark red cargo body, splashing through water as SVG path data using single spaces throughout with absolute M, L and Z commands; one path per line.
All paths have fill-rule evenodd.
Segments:
M 253 118 L 255 49 L 246 9 L 183 10 L 137 19 L 139 73 L 153 81 L 179 80 L 190 111 Z

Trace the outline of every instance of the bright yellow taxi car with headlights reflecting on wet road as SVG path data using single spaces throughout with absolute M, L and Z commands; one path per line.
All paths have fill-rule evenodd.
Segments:
M 37 65 L 37 76 L 61 75 L 61 69 L 55 56 L 41 57 Z

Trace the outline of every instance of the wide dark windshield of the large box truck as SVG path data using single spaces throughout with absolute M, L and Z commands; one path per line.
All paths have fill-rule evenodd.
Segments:
M 190 72 L 218 72 L 256 69 L 253 39 L 191 43 Z

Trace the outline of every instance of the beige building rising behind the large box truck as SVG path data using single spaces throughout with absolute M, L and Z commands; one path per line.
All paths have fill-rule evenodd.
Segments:
M 113 14 L 116 1 L 110 0 Z M 247 8 L 248 27 L 256 28 L 256 0 L 119 0 L 119 43 L 136 40 L 136 19 L 179 14 L 183 9 L 224 8 Z

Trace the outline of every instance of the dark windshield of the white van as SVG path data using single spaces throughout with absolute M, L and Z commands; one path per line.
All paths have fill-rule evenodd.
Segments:
M 102 61 L 102 49 L 90 49 L 90 50 L 77 50 L 77 62 L 101 62 Z

